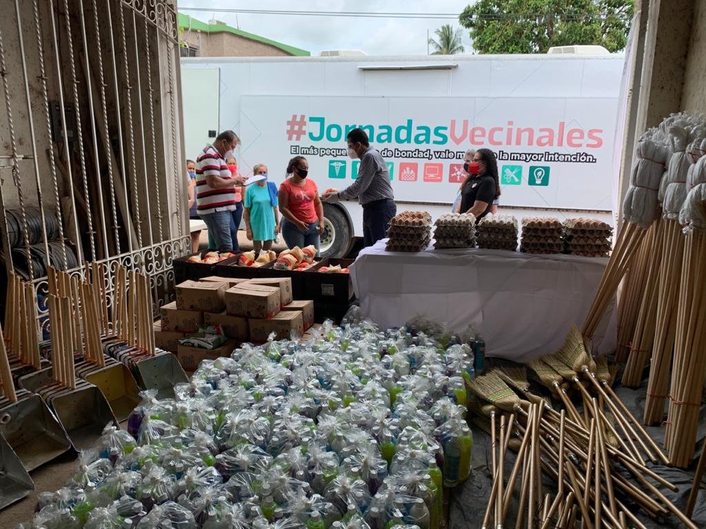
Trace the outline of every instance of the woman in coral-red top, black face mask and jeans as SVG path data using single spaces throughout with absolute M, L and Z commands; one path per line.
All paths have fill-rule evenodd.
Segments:
M 309 162 L 295 156 L 287 164 L 288 178 L 280 186 L 282 236 L 288 248 L 314 245 L 318 253 L 319 236 L 323 233 L 323 204 L 316 183 L 309 176 Z

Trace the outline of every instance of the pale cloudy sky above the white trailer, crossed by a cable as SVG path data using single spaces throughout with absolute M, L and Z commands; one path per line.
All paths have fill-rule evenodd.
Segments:
M 360 49 L 368 55 L 426 55 L 426 32 L 445 23 L 459 28 L 458 20 L 347 18 L 323 16 L 282 16 L 263 14 L 189 11 L 186 7 L 286 9 L 293 11 L 375 11 L 384 13 L 458 13 L 469 0 L 180 0 L 179 11 L 208 22 L 222 20 L 285 44 L 318 55 L 328 49 Z M 468 30 L 462 28 L 465 53 L 469 53 Z

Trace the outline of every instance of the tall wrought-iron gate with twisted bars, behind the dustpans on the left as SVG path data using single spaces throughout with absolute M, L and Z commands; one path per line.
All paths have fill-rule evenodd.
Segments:
M 47 267 L 148 274 L 167 303 L 189 253 L 174 0 L 8 0 L 0 16 L 0 238 L 35 286 Z M 2 276 L 3 274 L 0 274 Z M 4 281 L 4 277 L 0 279 Z M 4 298 L 4 296 L 1 296 Z

